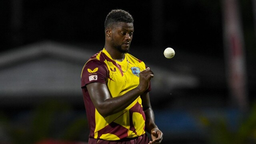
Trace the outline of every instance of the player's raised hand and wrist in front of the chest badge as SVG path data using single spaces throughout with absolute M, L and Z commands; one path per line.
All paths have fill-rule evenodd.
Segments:
M 148 89 L 149 81 L 154 77 L 154 73 L 150 70 L 150 68 L 146 68 L 142 72 L 140 72 L 140 84 L 138 88 L 143 92 Z

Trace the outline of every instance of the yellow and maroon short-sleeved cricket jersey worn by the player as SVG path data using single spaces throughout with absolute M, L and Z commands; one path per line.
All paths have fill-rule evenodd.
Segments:
M 139 73 L 145 69 L 144 62 L 131 54 L 126 53 L 124 60 L 118 62 L 105 49 L 86 62 L 81 74 L 81 86 L 90 138 L 120 140 L 145 134 L 145 114 L 140 96 L 123 111 L 104 118 L 94 107 L 86 89 L 86 84 L 100 82 L 107 85 L 112 97 L 118 97 L 138 86 Z

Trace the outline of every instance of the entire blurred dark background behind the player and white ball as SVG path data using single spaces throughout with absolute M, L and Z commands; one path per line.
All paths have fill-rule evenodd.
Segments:
M 112 9 L 134 17 L 163 144 L 256 143 L 256 0 L 1 0 L 0 143 L 86 144 L 80 74 Z

